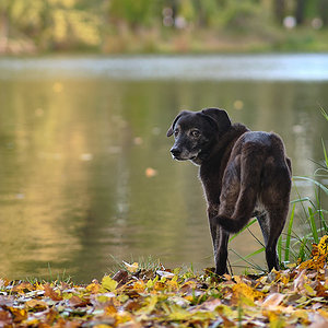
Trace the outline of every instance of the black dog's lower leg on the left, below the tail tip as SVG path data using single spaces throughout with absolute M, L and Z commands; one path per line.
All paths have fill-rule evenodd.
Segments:
M 226 259 L 229 233 L 215 222 L 214 219 L 216 214 L 216 210 L 213 210 L 211 208 L 208 209 L 209 223 L 214 250 L 215 273 L 222 276 L 227 272 Z

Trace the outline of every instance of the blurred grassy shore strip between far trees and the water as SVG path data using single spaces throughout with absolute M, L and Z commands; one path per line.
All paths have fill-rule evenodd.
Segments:
M 37 45 L 30 38 L 0 39 L 0 57 L 58 55 L 212 55 L 328 52 L 328 31 L 273 31 L 255 35 L 236 32 L 157 28 L 106 35 L 102 43 L 86 45 Z

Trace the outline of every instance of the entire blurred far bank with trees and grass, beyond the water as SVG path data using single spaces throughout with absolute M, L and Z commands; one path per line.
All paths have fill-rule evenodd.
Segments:
M 0 54 L 327 50 L 328 0 L 1 0 Z

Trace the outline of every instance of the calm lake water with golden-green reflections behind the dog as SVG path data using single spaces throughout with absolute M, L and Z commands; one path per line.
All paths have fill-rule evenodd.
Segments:
M 225 108 L 280 133 L 294 175 L 311 175 L 327 91 L 328 55 L 0 59 L 0 276 L 89 282 L 113 257 L 212 266 L 197 167 L 168 152 L 172 119 Z M 245 232 L 231 247 L 259 245 Z M 265 267 L 262 254 L 255 261 Z

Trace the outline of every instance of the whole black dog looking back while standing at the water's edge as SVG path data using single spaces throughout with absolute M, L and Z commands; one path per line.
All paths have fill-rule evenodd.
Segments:
M 181 112 L 167 137 L 174 134 L 175 160 L 199 165 L 208 201 L 215 273 L 226 272 L 230 233 L 256 216 L 266 244 L 268 268 L 279 270 L 277 242 L 289 211 L 291 161 L 281 138 L 231 124 L 225 110 Z

